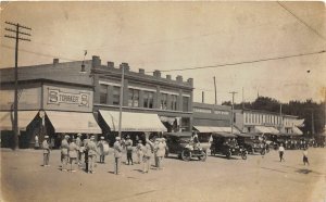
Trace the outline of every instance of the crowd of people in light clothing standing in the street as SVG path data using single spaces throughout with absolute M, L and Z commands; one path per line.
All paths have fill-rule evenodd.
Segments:
M 156 169 L 163 168 L 163 159 L 166 151 L 166 142 L 164 138 L 153 138 L 139 140 L 137 144 L 134 144 L 129 136 L 126 138 L 115 138 L 113 144 L 113 173 L 121 174 L 121 165 L 124 153 L 126 153 L 126 165 L 142 164 L 142 173 L 149 173 L 151 168 L 152 159 Z M 38 143 L 38 142 L 37 142 Z M 41 144 L 43 150 L 43 166 L 49 166 L 49 159 L 51 152 L 51 146 L 49 142 L 49 136 L 45 136 L 45 140 Z M 96 137 L 86 137 L 82 140 L 82 134 L 76 136 L 64 135 L 61 141 L 61 171 L 63 172 L 76 172 L 76 166 L 79 169 L 85 169 L 86 173 L 93 174 L 96 163 L 104 164 L 105 156 L 109 155 L 109 142 L 101 136 L 100 140 L 96 142 Z M 133 154 L 137 156 L 137 160 L 133 160 Z

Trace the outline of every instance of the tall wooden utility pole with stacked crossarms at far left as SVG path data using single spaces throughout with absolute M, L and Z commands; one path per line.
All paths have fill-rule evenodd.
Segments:
M 14 130 L 14 142 L 13 142 L 13 149 L 16 150 L 18 149 L 18 43 L 20 40 L 25 40 L 25 41 L 30 41 L 28 38 L 22 38 L 21 35 L 24 36 L 29 36 L 30 34 L 28 33 L 23 33 L 21 31 L 22 29 L 27 29 L 32 30 L 32 28 L 23 26 L 18 23 L 11 23 L 11 22 L 5 22 L 5 24 L 10 26 L 14 26 L 15 29 L 8 28 L 5 27 L 5 30 L 15 33 L 15 36 L 12 35 L 4 35 L 7 38 L 15 39 L 16 45 L 15 45 L 15 71 L 14 71 L 14 78 L 15 78 L 15 92 L 14 92 L 14 123 L 13 123 L 13 130 Z

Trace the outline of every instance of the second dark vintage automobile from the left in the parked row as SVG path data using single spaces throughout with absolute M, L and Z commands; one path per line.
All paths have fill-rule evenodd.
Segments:
M 228 132 L 213 134 L 213 142 L 211 146 L 211 155 L 222 154 L 227 159 L 231 155 L 240 155 L 242 160 L 247 160 L 247 150 L 237 143 L 237 136 Z

